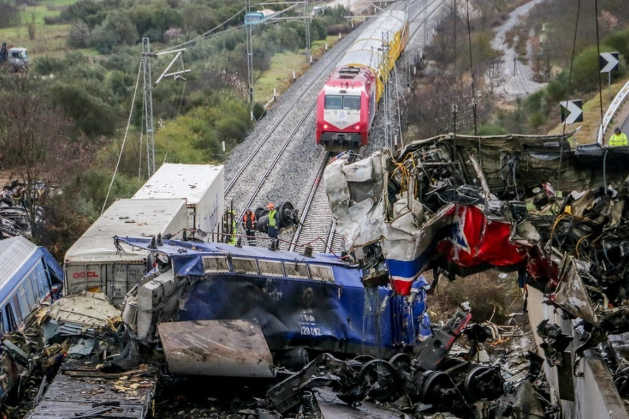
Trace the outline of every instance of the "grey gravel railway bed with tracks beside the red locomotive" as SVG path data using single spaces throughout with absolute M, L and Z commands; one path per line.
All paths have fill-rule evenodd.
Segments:
M 444 0 L 421 3 L 415 1 L 409 10 L 409 21 L 419 22 L 410 30 L 409 43 Z M 400 2 L 394 7 L 403 6 Z M 334 235 L 322 177 L 331 155 L 315 145 L 315 105 L 321 86 L 357 36 L 359 31 L 345 36 L 297 80 L 270 110 L 265 123 L 256 126 L 232 153 L 226 166 L 225 203 L 228 207 L 233 204 L 238 220 L 247 208 L 254 210 L 268 202 L 289 200 L 296 204 L 301 225 L 282 234 L 281 249 L 301 251 L 308 244 L 314 251 L 336 252 L 342 246 L 340 238 Z M 374 130 L 370 149 L 382 147 L 384 140 L 379 136 L 378 130 Z

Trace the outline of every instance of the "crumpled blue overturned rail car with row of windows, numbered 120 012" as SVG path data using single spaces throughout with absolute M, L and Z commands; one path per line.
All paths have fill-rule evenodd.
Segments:
M 129 237 L 116 237 L 115 244 L 121 251 L 126 244 L 154 255 L 154 270 L 127 295 L 123 320 L 140 341 L 154 341 L 159 332 L 167 358 L 169 340 L 176 341 L 171 347 L 178 353 L 217 344 L 196 354 L 207 360 L 225 346 L 242 348 L 256 331 L 280 363 L 304 358 L 304 350 L 381 357 L 412 352 L 431 335 L 428 284 L 422 279 L 403 297 L 390 287 L 363 287 L 358 266 L 329 254 Z M 238 325 L 226 321 L 248 322 L 239 332 L 246 336 L 231 339 Z

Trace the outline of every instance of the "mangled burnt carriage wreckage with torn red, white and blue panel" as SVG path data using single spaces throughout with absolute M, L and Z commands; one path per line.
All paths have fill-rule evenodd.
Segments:
M 391 277 L 405 294 L 425 270 L 450 279 L 517 271 L 521 287 L 572 319 L 570 330 L 532 325 L 549 365 L 572 376 L 597 348 L 627 392 L 626 361 L 613 356 L 623 351 L 608 339 L 629 332 L 626 147 L 570 149 L 570 135 L 449 134 L 397 156 L 384 149 L 352 163 L 348 155 L 326 168 L 326 192 L 368 276 Z

